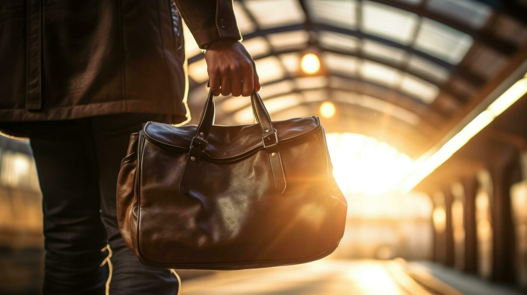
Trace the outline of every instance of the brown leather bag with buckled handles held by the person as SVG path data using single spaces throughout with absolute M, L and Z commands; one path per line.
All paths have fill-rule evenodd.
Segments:
M 257 124 L 148 122 L 131 135 L 117 190 L 119 229 L 148 266 L 234 270 L 326 257 L 344 234 L 347 203 L 318 117 Z

